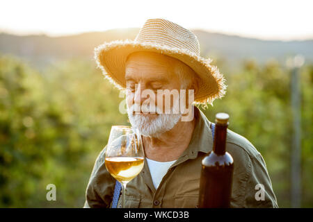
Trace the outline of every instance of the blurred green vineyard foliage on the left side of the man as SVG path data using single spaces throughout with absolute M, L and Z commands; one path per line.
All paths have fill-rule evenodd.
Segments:
M 44 73 L 0 59 L 0 207 L 81 207 L 111 126 L 127 124 L 118 91 L 89 62 Z M 46 200 L 56 185 L 57 201 Z

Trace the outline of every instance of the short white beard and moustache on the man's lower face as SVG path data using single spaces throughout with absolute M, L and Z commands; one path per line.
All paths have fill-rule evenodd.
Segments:
M 154 110 L 157 110 L 157 118 L 151 119 L 148 116 L 142 114 L 134 114 L 136 104 L 133 104 L 131 108 L 127 107 L 127 113 L 131 126 L 137 128 L 141 135 L 146 137 L 159 138 L 160 135 L 166 133 L 168 130 L 171 130 L 182 117 L 182 114 L 173 114 L 173 108 L 171 109 L 170 114 L 163 114 L 159 112 L 157 107 L 154 107 Z M 149 107 L 144 107 L 141 105 L 142 110 L 149 110 Z M 145 111 L 144 111 L 145 112 Z

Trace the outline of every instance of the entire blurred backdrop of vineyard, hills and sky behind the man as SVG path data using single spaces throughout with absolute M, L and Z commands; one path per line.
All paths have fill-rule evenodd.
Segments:
M 123 98 L 93 50 L 146 19 L 191 29 L 227 80 L 204 113 L 266 161 L 280 207 L 313 207 L 310 1 L 1 1 L 0 207 L 82 207 Z M 203 109 L 202 109 L 203 110 Z M 56 201 L 46 198 L 56 185 Z

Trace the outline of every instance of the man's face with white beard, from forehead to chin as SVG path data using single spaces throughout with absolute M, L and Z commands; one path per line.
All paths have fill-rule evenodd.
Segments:
M 157 137 L 175 126 L 181 117 L 181 114 L 159 113 L 165 111 L 165 101 L 164 98 L 158 98 L 162 95 L 158 95 L 157 90 L 177 89 L 179 92 L 180 89 L 179 76 L 172 69 L 175 62 L 168 56 L 150 52 L 133 53 L 127 60 L 125 69 L 127 112 L 131 125 L 141 130 L 143 135 Z M 158 104 L 158 101 L 163 103 Z M 158 113 L 143 112 L 147 104 Z M 136 105 L 141 106 L 138 112 L 135 112 Z M 172 106 L 171 100 L 170 107 Z

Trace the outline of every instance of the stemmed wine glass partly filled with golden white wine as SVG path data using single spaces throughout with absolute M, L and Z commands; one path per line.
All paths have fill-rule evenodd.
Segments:
M 111 176 L 122 184 L 122 208 L 129 181 L 143 169 L 143 142 L 137 129 L 130 126 L 112 126 L 106 147 L 105 165 Z

